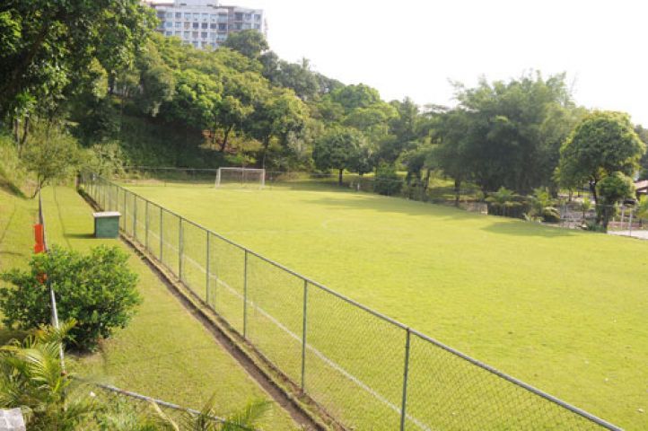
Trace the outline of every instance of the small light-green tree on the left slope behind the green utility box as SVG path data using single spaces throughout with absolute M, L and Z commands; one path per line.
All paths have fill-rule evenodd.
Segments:
M 45 185 L 72 178 L 83 154 L 76 139 L 66 130 L 57 125 L 39 124 L 27 141 L 22 160 L 25 168 L 36 176 L 35 197 Z

